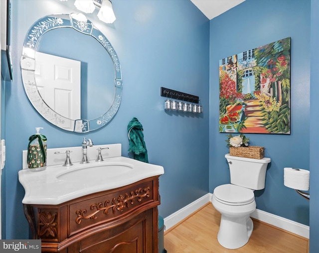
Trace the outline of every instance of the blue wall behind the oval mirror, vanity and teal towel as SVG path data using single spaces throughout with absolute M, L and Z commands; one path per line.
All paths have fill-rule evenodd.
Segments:
M 70 13 L 74 1 L 11 1 L 11 53 L 14 80 L 6 87 L 6 239 L 28 238 L 17 173 L 21 151 L 34 127 L 44 127 L 48 148 L 122 143 L 128 156 L 127 125 L 137 117 L 144 127 L 150 163 L 162 165 L 160 215 L 166 217 L 208 192 L 209 20 L 188 0 L 113 0 L 117 20 L 105 24 L 87 17 L 107 36 L 122 67 L 123 97 L 116 117 L 87 134 L 47 123 L 27 100 L 21 81 L 20 56 L 25 34 L 40 17 Z M 71 7 L 66 7 L 70 5 Z M 71 9 L 72 8 L 72 9 Z M 204 113 L 167 113 L 160 87 L 200 97 Z

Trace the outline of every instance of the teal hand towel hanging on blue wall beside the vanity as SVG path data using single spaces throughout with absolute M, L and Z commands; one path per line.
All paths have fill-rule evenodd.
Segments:
M 130 140 L 129 152 L 134 153 L 134 159 L 148 163 L 148 150 L 144 141 L 143 126 L 135 117 L 128 125 L 128 135 Z

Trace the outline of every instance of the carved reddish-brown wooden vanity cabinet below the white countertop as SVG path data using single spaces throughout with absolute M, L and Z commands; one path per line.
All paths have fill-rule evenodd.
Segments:
M 42 252 L 158 253 L 159 176 L 59 205 L 23 204 Z

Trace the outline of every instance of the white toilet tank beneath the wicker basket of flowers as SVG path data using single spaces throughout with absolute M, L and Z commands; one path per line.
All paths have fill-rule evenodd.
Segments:
M 267 165 L 270 158 L 252 159 L 225 155 L 230 171 L 230 183 L 252 190 L 265 188 Z

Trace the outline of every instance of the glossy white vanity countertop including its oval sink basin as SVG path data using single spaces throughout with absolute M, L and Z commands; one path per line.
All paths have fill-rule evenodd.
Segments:
M 62 164 L 50 165 L 43 171 L 22 169 L 18 173 L 25 190 L 23 204 L 57 205 L 159 176 L 164 173 L 164 169 L 159 165 L 116 156 L 102 162 L 74 162 L 69 167 Z

